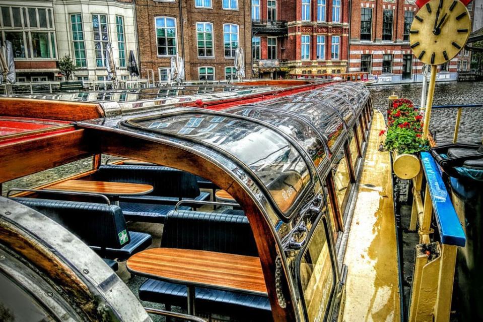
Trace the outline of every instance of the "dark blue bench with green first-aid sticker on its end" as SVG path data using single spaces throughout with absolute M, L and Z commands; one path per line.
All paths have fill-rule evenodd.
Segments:
M 13 198 L 64 226 L 102 257 L 123 261 L 151 245 L 150 234 L 129 231 L 121 209 L 115 205 Z

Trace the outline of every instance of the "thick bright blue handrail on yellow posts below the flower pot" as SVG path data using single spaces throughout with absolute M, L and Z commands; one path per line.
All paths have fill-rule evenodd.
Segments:
M 421 162 L 433 202 L 441 242 L 464 247 L 466 236 L 451 203 L 439 166 L 429 152 L 421 152 Z

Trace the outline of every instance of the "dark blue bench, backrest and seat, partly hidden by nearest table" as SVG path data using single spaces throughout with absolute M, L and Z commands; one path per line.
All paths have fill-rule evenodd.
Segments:
M 219 251 L 258 256 L 246 216 L 189 210 L 170 211 L 163 229 L 161 247 Z M 139 289 L 145 301 L 185 307 L 186 286 L 148 279 Z M 196 287 L 196 308 L 217 313 L 245 314 L 254 310 L 261 320 L 271 320 L 268 297 Z M 265 316 L 266 315 L 266 316 Z

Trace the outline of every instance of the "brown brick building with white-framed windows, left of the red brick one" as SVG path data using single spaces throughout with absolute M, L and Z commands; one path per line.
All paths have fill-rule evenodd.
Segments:
M 185 80 L 235 77 L 235 49 L 245 52 L 251 77 L 251 21 L 247 0 L 137 0 L 141 77 L 170 80 L 171 57 L 185 61 Z

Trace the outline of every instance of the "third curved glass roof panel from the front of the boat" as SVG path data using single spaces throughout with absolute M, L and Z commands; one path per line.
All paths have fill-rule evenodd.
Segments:
M 307 98 L 290 96 L 278 100 L 263 101 L 255 105 L 274 110 L 291 111 L 306 118 L 325 136 L 329 149 L 337 142 L 344 131 L 344 122 L 333 108 Z

